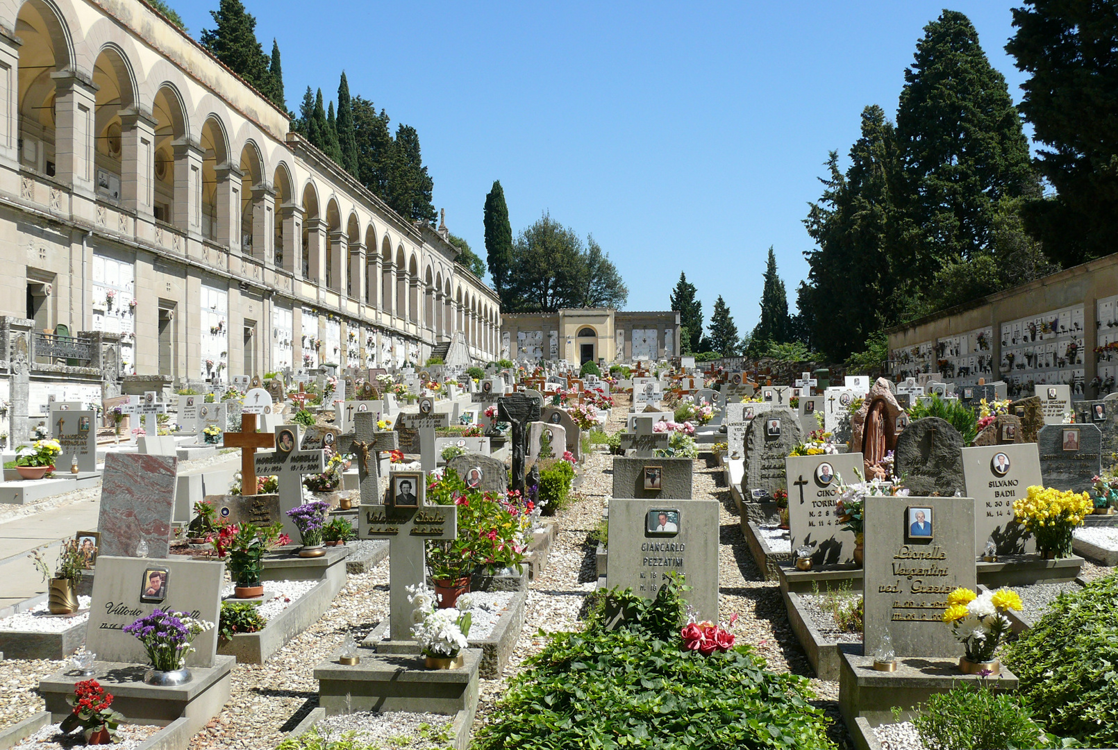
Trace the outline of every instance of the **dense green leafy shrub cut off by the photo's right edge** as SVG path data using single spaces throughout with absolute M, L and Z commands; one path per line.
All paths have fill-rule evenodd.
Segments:
M 1090 748 L 1118 747 L 1118 577 L 1061 594 L 1002 661 L 1049 732 Z

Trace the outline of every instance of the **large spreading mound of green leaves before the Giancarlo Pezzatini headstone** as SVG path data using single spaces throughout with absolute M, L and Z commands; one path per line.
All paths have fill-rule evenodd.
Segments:
M 512 678 L 476 750 L 654 748 L 833 750 L 807 678 L 774 674 L 748 645 L 703 656 L 680 638 L 684 605 L 609 591 L 580 633 L 558 633 Z M 625 610 L 608 630 L 606 616 Z

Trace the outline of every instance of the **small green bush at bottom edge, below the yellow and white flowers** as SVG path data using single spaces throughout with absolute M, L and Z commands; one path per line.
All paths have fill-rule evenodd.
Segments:
M 995 693 L 985 682 L 930 696 L 913 723 L 928 750 L 1052 747 L 1021 695 Z

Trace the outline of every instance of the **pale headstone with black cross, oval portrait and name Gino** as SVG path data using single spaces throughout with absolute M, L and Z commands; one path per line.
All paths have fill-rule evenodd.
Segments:
M 862 454 L 842 453 L 785 458 L 788 477 L 788 530 L 792 550 L 805 544 L 815 549 L 815 564 L 854 561 L 854 532 L 844 531 L 835 514 L 839 483 L 858 482 Z M 825 468 L 824 468 L 825 467 Z

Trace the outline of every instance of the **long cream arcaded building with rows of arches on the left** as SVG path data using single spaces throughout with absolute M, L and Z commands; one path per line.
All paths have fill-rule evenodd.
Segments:
M 498 297 L 445 230 L 139 0 L 0 0 L 0 315 L 32 321 L 32 386 L 102 363 L 83 341 L 176 383 L 421 364 L 458 332 L 496 359 Z

